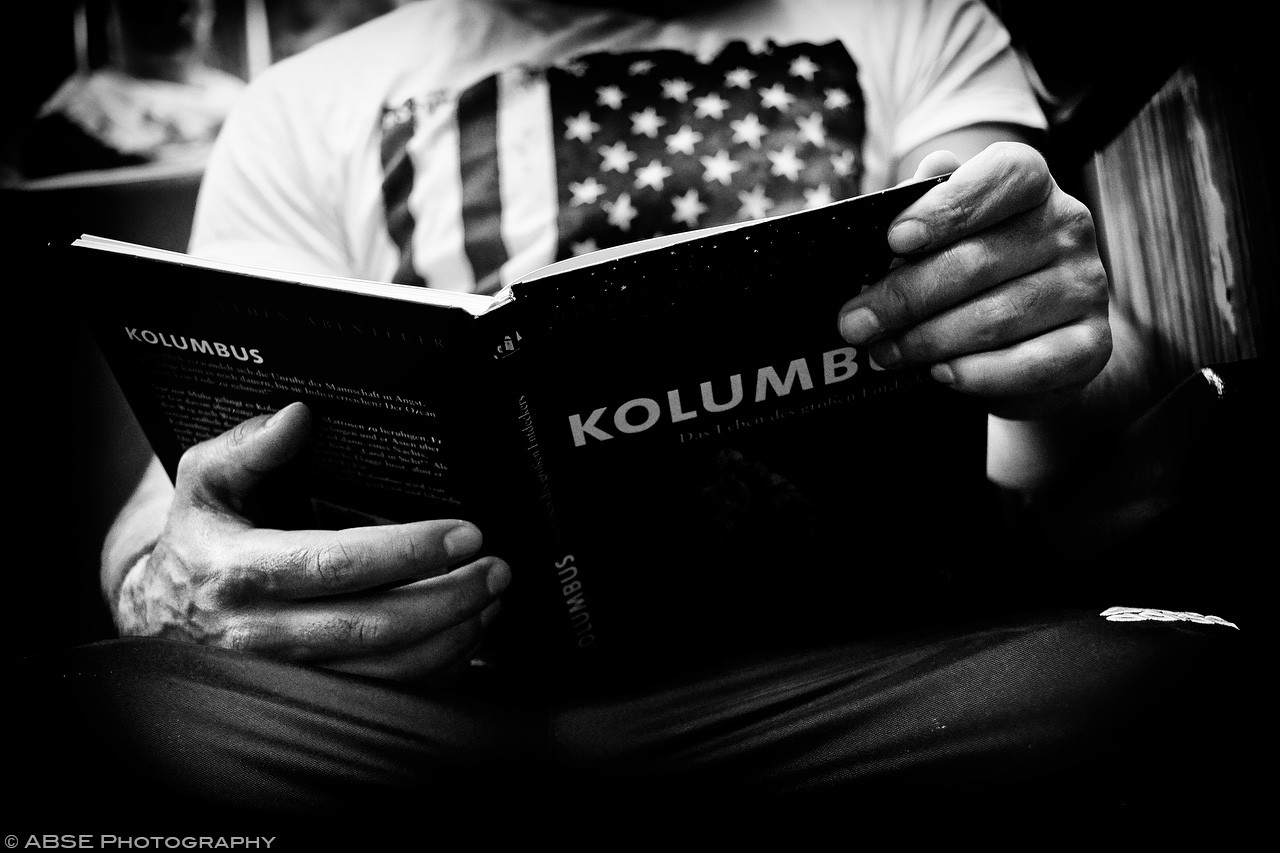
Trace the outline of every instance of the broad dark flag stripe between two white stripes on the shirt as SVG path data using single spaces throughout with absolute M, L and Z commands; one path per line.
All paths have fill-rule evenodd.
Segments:
M 507 263 L 502 240 L 498 167 L 498 78 L 488 77 L 458 97 L 458 169 L 462 177 L 462 242 L 481 293 L 500 287 Z

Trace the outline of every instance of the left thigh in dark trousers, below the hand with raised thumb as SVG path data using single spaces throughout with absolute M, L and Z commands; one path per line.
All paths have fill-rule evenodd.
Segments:
M 543 715 L 463 690 L 156 639 L 9 669 L 32 809 L 339 817 L 474 802 L 545 762 Z

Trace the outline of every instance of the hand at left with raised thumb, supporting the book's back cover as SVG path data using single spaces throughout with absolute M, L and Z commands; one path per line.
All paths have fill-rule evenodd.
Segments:
M 511 578 L 497 557 L 472 560 L 475 526 L 270 530 L 247 517 L 308 428 L 294 403 L 187 451 L 164 533 L 124 576 L 120 631 L 393 679 L 465 663 Z

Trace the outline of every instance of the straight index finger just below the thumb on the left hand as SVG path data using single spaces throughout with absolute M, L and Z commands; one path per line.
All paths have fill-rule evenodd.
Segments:
M 344 530 L 253 530 L 220 555 L 228 589 L 246 599 L 356 593 L 445 573 L 484 537 L 467 521 L 433 519 Z

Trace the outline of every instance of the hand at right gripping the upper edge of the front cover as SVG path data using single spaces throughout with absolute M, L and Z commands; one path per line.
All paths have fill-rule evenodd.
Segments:
M 1092 216 L 1030 146 L 997 142 L 963 165 L 938 152 L 915 177 L 951 169 L 893 222 L 906 263 L 841 309 L 841 334 L 882 366 L 932 365 L 996 415 L 1052 415 L 1111 355 Z

